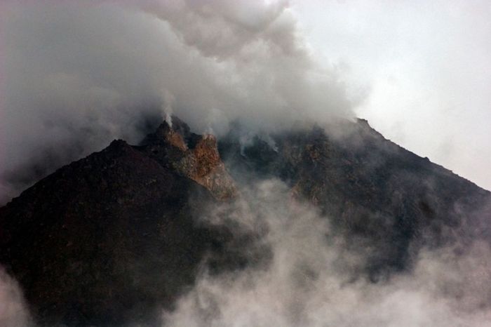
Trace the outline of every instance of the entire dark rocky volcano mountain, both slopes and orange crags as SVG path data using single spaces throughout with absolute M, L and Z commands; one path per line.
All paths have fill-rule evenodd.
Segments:
M 422 246 L 491 240 L 490 192 L 398 147 L 366 121 L 220 140 L 173 119 L 140 145 L 115 140 L 0 208 L 0 262 L 41 325 L 156 323 L 199 269 L 220 274 L 267 258 L 227 226 L 194 219 L 250 180 L 279 178 L 335 230 L 367 245 L 372 282 L 411 269 Z M 329 127 L 327 130 L 329 131 Z M 220 153 L 219 153 L 220 152 Z M 222 161 L 223 159 L 223 161 Z M 465 242 L 462 244 L 465 246 Z

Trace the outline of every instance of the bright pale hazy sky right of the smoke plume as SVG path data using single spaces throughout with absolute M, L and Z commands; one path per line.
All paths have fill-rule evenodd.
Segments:
M 293 1 L 386 138 L 491 189 L 491 1 Z

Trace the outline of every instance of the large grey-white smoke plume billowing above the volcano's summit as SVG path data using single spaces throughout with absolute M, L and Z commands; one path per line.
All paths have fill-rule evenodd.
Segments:
M 285 1 L 7 0 L 0 18 L 4 201 L 161 114 L 219 135 L 351 116 Z

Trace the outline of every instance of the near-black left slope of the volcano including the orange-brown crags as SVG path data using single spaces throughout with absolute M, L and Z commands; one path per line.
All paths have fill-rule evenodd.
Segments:
M 41 324 L 158 321 L 205 255 L 241 264 L 227 229 L 191 218 L 234 192 L 215 138 L 163 123 L 141 146 L 115 140 L 0 208 L 0 262 Z

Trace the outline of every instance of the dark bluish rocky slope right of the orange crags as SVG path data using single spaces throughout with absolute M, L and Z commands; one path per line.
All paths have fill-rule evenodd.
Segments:
M 326 133 L 326 131 L 328 131 Z M 220 152 L 239 182 L 281 178 L 292 194 L 318 206 L 338 232 L 365 244 L 377 281 L 410 268 L 422 246 L 462 239 L 491 241 L 490 192 L 386 140 L 358 119 L 241 142 L 235 126 Z

